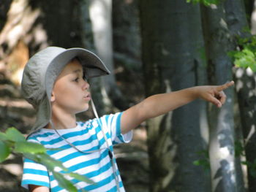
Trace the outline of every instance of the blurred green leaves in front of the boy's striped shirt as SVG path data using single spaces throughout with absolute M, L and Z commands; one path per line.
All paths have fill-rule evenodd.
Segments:
M 0 163 L 7 159 L 10 153 L 18 153 L 25 158 L 46 166 L 53 173 L 61 188 L 65 188 L 67 191 L 76 192 L 78 189 L 66 177 L 93 184 L 88 178 L 70 172 L 69 169 L 61 164 L 61 161 L 51 158 L 46 151 L 47 149 L 38 143 L 27 142 L 23 134 L 16 128 L 8 128 L 5 133 L 0 132 Z M 63 172 L 56 172 L 56 168 L 61 169 Z

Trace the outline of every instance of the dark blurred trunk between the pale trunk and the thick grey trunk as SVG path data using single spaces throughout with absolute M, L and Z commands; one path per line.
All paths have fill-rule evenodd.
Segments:
M 140 72 L 140 28 L 138 1 L 113 0 L 114 60 Z

